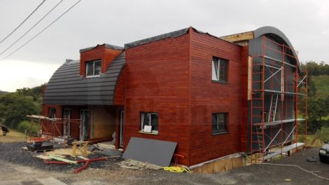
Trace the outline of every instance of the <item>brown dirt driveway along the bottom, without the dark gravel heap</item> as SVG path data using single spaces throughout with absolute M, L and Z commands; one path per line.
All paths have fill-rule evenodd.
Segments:
M 1 147 L 1 146 L 0 146 Z M 0 148 L 0 154 L 2 151 Z M 316 162 L 307 162 L 313 156 Z M 293 156 L 270 162 L 276 165 L 250 165 L 218 174 L 177 174 L 163 170 L 129 170 L 120 167 L 110 169 L 89 167 L 79 174 L 70 170 L 48 171 L 15 164 L 12 159 L 0 159 L 0 184 L 328 184 L 328 179 L 300 170 L 298 165 L 321 177 L 329 178 L 329 164 L 320 163 L 318 148 L 307 149 Z M 279 164 L 279 165 L 277 165 Z M 52 179 L 51 179 L 52 178 Z M 56 182 L 54 182 L 54 180 Z

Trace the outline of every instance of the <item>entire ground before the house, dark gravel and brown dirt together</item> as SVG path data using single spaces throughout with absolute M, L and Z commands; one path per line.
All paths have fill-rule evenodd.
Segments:
M 1 179 L 10 181 L 33 181 L 35 178 L 55 177 L 66 184 L 328 184 L 305 170 L 329 178 L 329 164 L 318 160 L 318 148 L 302 150 L 293 156 L 269 163 L 275 165 L 249 165 L 218 174 L 177 174 L 163 170 L 130 170 L 118 167 L 116 160 L 109 158 L 103 162 L 91 163 L 79 174 L 72 174 L 76 165 L 45 165 L 31 152 L 21 149 L 22 143 L 0 144 L 0 184 Z M 99 157 L 100 154 L 97 154 Z M 307 162 L 308 157 L 316 162 Z M 14 164 L 13 164 L 14 163 Z M 10 168 L 12 171 L 8 171 Z M 34 170 L 35 169 L 35 170 Z M 45 169 L 45 170 L 44 170 Z M 2 170 L 2 172 L 1 172 Z M 29 174 L 33 172 L 33 175 Z M 2 173 L 2 174 L 1 174 Z M 20 174 L 18 177 L 17 173 Z M 10 175 L 11 174 L 11 175 Z M 2 175 L 2 176 L 1 176 Z M 9 182 L 10 182 L 9 181 Z M 8 181 L 3 182 L 8 184 Z M 10 184 L 10 183 L 9 183 Z

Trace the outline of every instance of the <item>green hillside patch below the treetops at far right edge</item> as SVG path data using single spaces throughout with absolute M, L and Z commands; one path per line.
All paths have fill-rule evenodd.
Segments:
M 311 76 L 316 87 L 316 97 L 329 96 L 329 75 Z

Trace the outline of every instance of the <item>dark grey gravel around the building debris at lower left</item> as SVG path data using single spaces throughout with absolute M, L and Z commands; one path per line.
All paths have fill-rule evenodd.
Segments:
M 0 160 L 8 161 L 10 163 L 24 165 L 29 167 L 34 167 L 36 169 L 48 170 L 54 172 L 73 172 L 79 167 L 83 166 L 84 163 L 80 163 L 77 165 L 50 165 L 43 163 L 43 160 L 40 158 L 36 158 L 34 156 L 41 155 L 43 153 L 34 153 L 31 151 L 27 151 L 22 149 L 23 146 L 26 146 L 25 142 L 18 143 L 0 143 Z M 59 148 L 59 146 L 55 146 L 55 148 Z M 116 154 L 118 153 L 110 153 Z M 102 155 L 101 153 L 92 153 L 87 156 L 87 158 L 99 158 L 106 155 Z M 115 155 L 113 155 L 115 156 Z M 67 157 L 69 160 L 81 160 L 80 158 Z M 104 161 L 92 162 L 88 166 L 92 169 L 104 168 L 106 170 L 113 170 L 117 168 L 115 163 L 123 160 L 122 158 L 108 158 Z

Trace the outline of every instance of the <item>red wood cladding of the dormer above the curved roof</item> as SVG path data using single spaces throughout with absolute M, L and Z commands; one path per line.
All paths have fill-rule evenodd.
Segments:
M 111 62 L 122 52 L 122 50 L 114 50 L 112 48 L 106 48 L 105 45 L 100 45 L 80 53 L 80 75 L 85 76 L 85 62 L 92 60 L 102 60 L 101 73 L 105 73 Z

